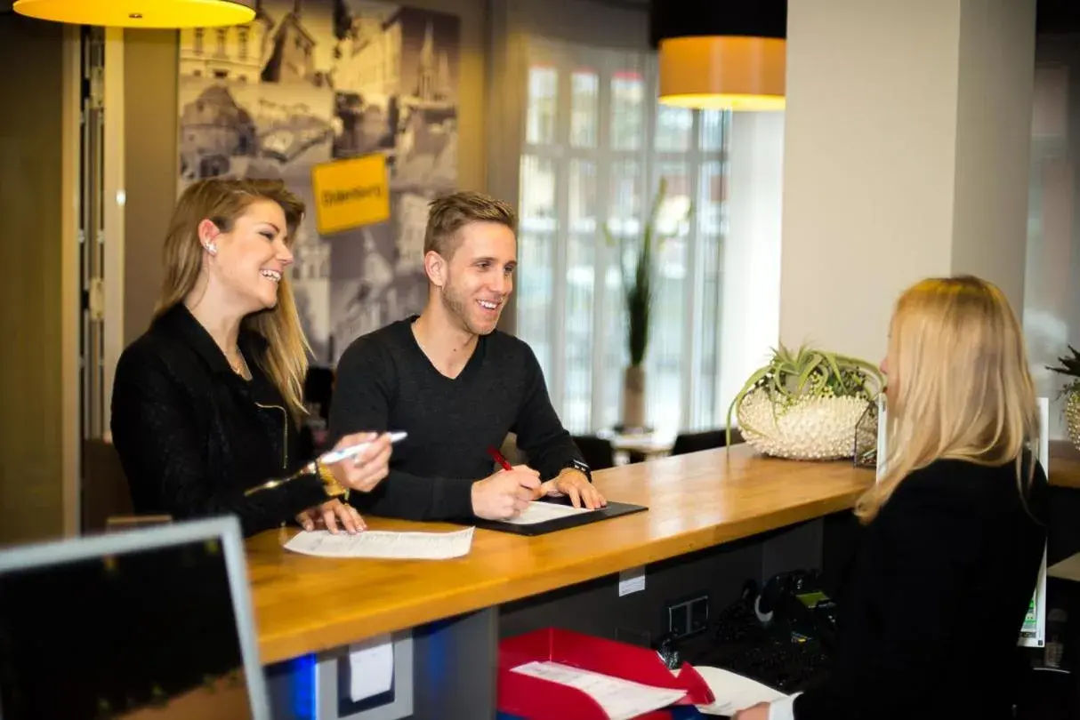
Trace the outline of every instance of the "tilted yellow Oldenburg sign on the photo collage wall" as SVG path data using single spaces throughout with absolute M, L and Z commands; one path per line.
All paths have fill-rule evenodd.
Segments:
M 390 219 L 390 186 L 382 153 L 315 165 L 311 186 L 321 235 Z

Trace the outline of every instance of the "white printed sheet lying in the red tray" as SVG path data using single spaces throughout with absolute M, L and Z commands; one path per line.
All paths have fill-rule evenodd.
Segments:
M 639 682 L 548 661 L 518 665 L 512 671 L 580 690 L 596 701 L 611 720 L 630 720 L 645 712 L 667 707 L 686 696 L 685 690 L 643 685 Z

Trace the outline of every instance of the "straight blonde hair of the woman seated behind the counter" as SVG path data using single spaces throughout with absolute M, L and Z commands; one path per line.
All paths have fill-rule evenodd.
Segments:
M 1039 440 L 1035 384 L 1021 325 L 994 284 L 970 275 L 933 277 L 896 302 L 889 335 L 889 453 L 882 477 L 855 505 L 877 516 L 912 472 L 935 460 L 1014 462 L 1022 498 Z

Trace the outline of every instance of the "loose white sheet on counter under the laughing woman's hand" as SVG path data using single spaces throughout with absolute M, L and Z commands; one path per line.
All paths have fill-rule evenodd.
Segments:
M 285 543 L 285 549 L 319 557 L 375 558 L 383 560 L 448 560 L 469 554 L 473 528 L 454 532 L 389 532 L 364 530 L 332 534 L 327 530 L 301 531 Z

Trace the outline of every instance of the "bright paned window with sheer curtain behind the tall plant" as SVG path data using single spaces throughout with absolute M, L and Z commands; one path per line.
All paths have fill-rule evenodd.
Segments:
M 657 103 L 652 54 L 529 38 L 519 165 L 516 332 L 572 433 L 621 419 L 627 363 L 619 248 L 639 242 L 661 178 L 647 422 L 720 426 L 716 407 L 725 234 L 723 111 Z M 689 222 L 676 222 L 692 204 Z

